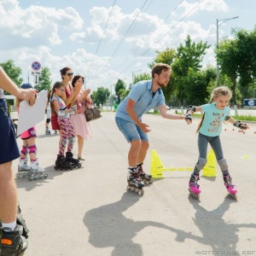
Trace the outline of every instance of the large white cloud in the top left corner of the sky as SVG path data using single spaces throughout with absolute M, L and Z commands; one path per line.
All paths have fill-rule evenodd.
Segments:
M 61 44 L 59 28 L 79 29 L 83 20 L 73 8 L 55 9 L 30 6 L 20 9 L 15 0 L 0 2 L 0 41 L 2 49 L 34 48 L 38 45 Z

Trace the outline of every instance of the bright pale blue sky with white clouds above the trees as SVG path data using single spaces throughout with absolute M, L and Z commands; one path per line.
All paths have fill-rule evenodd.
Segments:
M 38 61 L 52 84 L 71 67 L 86 88 L 113 90 L 150 73 L 156 51 L 177 49 L 188 34 L 211 44 L 203 65 L 216 65 L 217 20 L 219 40 L 232 38 L 232 28 L 254 29 L 255 9 L 255 0 L 0 0 L 0 62 L 15 61 L 32 85 Z

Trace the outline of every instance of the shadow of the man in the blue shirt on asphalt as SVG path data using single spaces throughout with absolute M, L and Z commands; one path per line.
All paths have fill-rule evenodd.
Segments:
M 125 192 L 120 201 L 112 204 L 94 208 L 84 215 L 84 224 L 90 232 L 89 242 L 94 247 L 114 247 L 111 255 L 143 255 L 140 244 L 132 239 L 137 232 L 148 226 L 176 232 L 178 237 L 183 237 L 183 230 L 176 230 L 165 224 L 154 221 L 134 221 L 125 218 L 122 212 L 137 203 L 141 197 L 135 193 Z M 139 212 L 138 212 L 139 214 Z

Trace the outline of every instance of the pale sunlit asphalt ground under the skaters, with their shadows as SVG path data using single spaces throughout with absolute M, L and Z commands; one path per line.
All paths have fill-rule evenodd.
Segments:
M 186 125 L 147 114 L 143 120 L 152 129 L 147 172 L 153 149 L 166 168 L 195 165 L 198 119 Z M 201 177 L 201 201 L 196 201 L 188 193 L 191 172 L 165 172 L 144 195 L 126 192 L 129 144 L 114 113 L 91 123 L 86 160 L 73 171 L 54 170 L 59 137 L 45 136 L 44 122 L 38 124 L 38 159 L 49 176 L 16 179 L 30 230 L 25 255 L 256 255 L 256 125 L 249 125 L 245 133 L 224 125 L 221 136 L 238 201 L 227 196 L 219 167 L 217 177 Z M 15 160 L 14 173 L 17 165 Z

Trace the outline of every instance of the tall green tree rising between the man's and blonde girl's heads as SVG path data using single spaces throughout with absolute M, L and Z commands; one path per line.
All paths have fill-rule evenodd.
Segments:
M 206 55 L 206 49 L 211 45 L 207 43 L 191 41 L 190 36 L 188 35 L 185 44 L 180 44 L 177 47 L 175 60 L 172 64 L 173 76 L 176 81 L 177 91 L 176 95 L 180 99 L 180 104 L 183 106 L 184 100 L 184 88 L 185 84 L 188 82 L 189 77 L 189 68 L 194 71 L 199 71 L 201 68 L 201 61 L 203 60 L 204 55 Z

